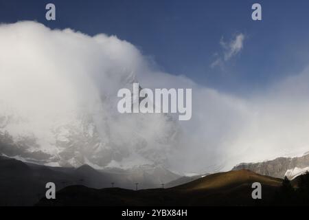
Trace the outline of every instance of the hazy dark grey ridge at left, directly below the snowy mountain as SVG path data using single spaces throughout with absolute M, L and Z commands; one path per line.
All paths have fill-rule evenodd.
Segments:
M 95 170 L 83 165 L 79 168 L 51 167 L 21 162 L 0 156 L 0 206 L 33 206 L 45 196 L 47 182 L 56 189 L 82 185 L 89 188 L 158 188 L 161 183 L 180 176 L 162 167 L 139 167 L 130 170 Z

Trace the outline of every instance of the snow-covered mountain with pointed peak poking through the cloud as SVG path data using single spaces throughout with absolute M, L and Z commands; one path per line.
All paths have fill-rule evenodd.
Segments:
M 119 88 L 128 89 L 137 82 L 133 73 L 117 80 Z M 118 113 L 116 91 L 101 94 L 91 107 L 89 102 L 70 111 L 55 106 L 43 118 L 41 112 L 36 117 L 8 100 L 0 102 L 0 155 L 52 166 L 168 166 L 168 155 L 181 134 L 178 122 L 163 113 Z

